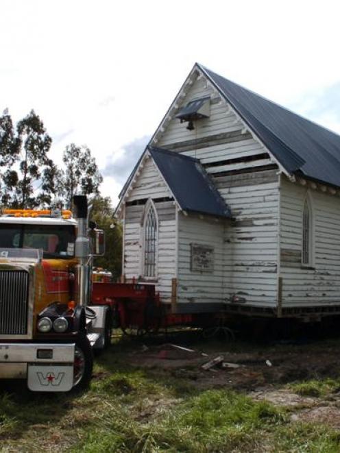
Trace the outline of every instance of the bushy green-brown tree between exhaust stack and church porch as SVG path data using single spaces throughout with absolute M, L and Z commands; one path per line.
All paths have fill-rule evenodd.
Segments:
M 121 254 L 123 233 L 121 224 L 114 218 L 110 197 L 95 197 L 91 219 L 98 228 L 105 232 L 106 253 L 95 258 L 95 266 L 103 267 L 112 272 L 114 280 L 121 276 Z

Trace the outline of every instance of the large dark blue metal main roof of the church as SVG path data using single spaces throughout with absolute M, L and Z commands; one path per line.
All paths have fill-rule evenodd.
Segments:
M 289 173 L 340 186 L 340 136 L 197 64 Z

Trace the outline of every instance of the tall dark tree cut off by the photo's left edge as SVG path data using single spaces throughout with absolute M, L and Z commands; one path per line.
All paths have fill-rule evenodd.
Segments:
M 12 190 L 18 182 L 12 165 L 18 159 L 20 140 L 15 134 L 12 118 L 8 110 L 0 117 L 0 194 L 1 203 L 8 204 L 8 188 Z

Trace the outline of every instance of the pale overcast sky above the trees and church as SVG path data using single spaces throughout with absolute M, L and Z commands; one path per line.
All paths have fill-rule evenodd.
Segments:
M 338 6 L 339 5 L 339 6 Z M 340 133 L 338 1 L 0 0 L 0 111 L 86 144 L 117 194 L 197 61 Z

